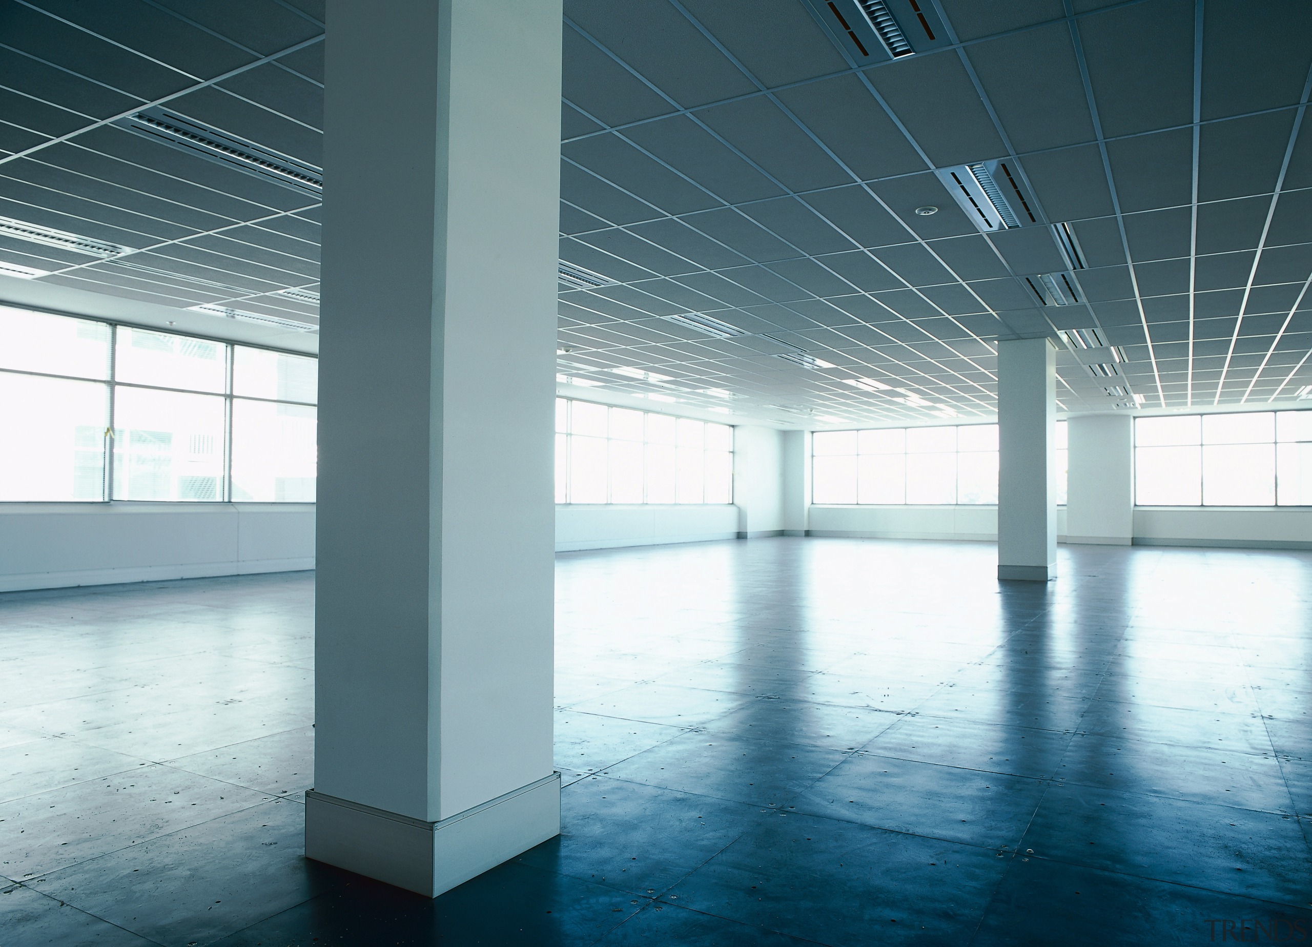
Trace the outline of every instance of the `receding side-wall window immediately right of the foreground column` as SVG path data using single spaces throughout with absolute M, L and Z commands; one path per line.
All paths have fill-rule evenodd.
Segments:
M 731 504 L 733 429 L 556 399 L 558 504 Z

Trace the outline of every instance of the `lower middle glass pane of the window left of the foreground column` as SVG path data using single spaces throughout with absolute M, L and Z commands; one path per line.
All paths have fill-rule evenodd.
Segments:
M 223 500 L 223 399 L 114 391 L 115 500 Z

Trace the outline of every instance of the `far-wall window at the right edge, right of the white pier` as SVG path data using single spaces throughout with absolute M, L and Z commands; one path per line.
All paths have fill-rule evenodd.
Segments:
M 1312 411 L 1135 418 L 1139 506 L 1312 506 Z

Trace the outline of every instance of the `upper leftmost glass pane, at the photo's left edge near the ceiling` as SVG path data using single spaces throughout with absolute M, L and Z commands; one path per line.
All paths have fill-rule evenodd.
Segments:
M 0 306 L 0 369 L 109 378 L 109 327 Z

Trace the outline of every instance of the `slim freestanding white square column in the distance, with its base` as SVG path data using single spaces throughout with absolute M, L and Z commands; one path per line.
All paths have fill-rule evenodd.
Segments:
M 997 344 L 997 577 L 1057 572 L 1056 350 L 1047 338 Z

